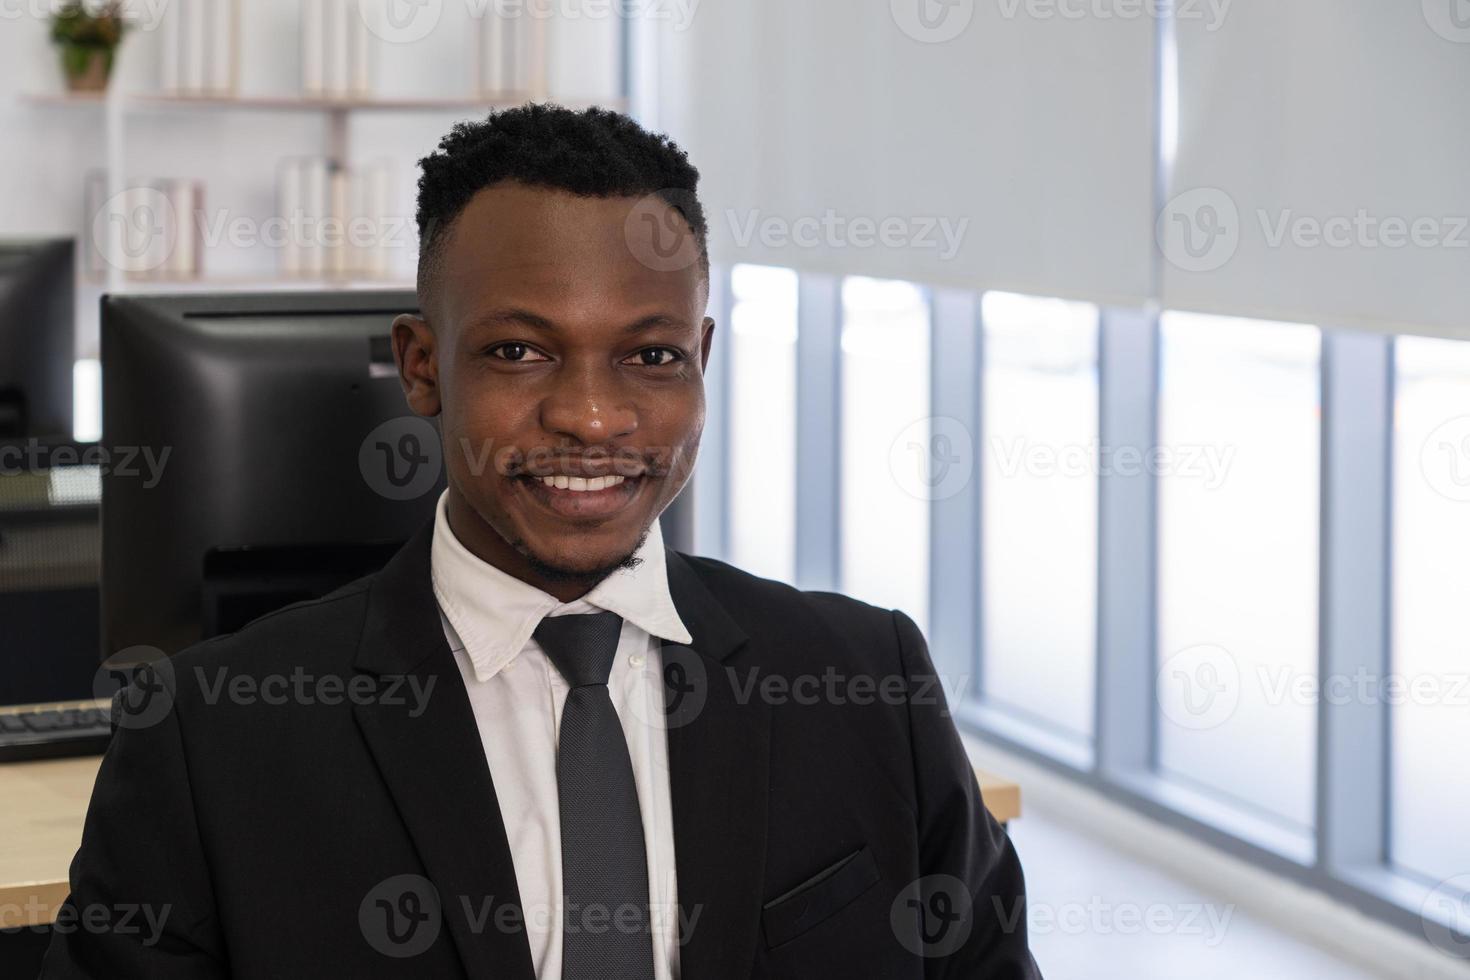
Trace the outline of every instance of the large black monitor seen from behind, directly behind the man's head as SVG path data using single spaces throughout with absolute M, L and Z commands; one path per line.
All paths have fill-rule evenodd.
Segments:
M 412 291 L 103 298 L 103 657 L 323 595 L 431 520 L 438 436 L 388 345 L 416 310 Z

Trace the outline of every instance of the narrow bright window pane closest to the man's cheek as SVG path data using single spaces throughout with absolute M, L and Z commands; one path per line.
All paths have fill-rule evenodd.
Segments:
M 795 579 L 797 273 L 731 269 L 729 561 Z

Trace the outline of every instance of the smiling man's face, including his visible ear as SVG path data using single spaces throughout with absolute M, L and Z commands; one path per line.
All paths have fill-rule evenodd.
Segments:
M 394 325 L 410 406 L 440 416 L 450 523 L 520 577 L 589 586 L 638 548 L 694 466 L 707 282 L 700 263 L 660 262 L 666 251 L 637 241 L 678 229 L 695 254 L 676 212 L 654 228 L 648 209 L 490 187 L 442 242 L 428 323 Z

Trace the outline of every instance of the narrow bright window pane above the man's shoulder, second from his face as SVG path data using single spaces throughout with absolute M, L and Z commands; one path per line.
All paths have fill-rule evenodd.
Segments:
M 841 585 L 929 623 L 929 303 L 842 282 Z

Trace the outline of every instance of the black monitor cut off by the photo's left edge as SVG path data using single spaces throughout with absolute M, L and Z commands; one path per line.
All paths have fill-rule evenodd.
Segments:
M 75 242 L 0 238 L 0 439 L 71 439 Z

